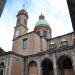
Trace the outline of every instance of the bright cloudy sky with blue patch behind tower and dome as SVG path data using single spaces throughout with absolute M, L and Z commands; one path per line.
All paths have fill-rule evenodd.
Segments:
M 73 31 L 66 0 L 7 0 L 0 18 L 0 47 L 5 51 L 12 50 L 16 15 L 22 8 L 29 15 L 28 32 L 34 30 L 41 13 L 52 29 L 52 37 Z

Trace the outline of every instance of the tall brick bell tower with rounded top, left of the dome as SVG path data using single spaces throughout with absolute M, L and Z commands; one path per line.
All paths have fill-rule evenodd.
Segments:
M 17 14 L 17 22 L 14 32 L 14 38 L 17 39 L 18 37 L 27 33 L 27 20 L 28 20 L 28 13 L 26 10 L 21 9 Z

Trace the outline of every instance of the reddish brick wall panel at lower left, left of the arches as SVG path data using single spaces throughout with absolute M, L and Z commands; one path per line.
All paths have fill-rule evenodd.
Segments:
M 19 57 L 14 57 L 12 60 L 11 75 L 23 75 L 24 62 Z

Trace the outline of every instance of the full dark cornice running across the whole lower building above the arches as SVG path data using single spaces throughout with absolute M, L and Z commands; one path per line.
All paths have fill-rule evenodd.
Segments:
M 68 51 L 68 50 L 73 50 L 73 49 L 75 49 L 74 46 L 63 46 L 63 47 L 60 47 L 60 48 L 51 48 L 51 49 L 48 49 L 47 51 L 39 52 L 39 53 L 28 55 L 28 56 L 23 56 L 23 55 L 15 53 L 15 52 L 9 51 L 9 52 L 4 52 L 1 56 L 11 54 L 11 55 L 16 55 L 16 56 L 19 56 L 19 57 L 22 57 L 22 58 L 27 58 L 27 57 L 42 56 L 42 55 L 45 55 L 45 54 L 59 53 L 59 52 L 62 52 L 62 51 Z

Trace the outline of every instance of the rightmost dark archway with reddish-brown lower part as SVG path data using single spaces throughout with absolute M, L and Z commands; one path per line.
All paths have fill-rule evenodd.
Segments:
M 60 75 L 74 75 L 72 61 L 67 56 L 61 56 L 59 58 L 58 69 Z

